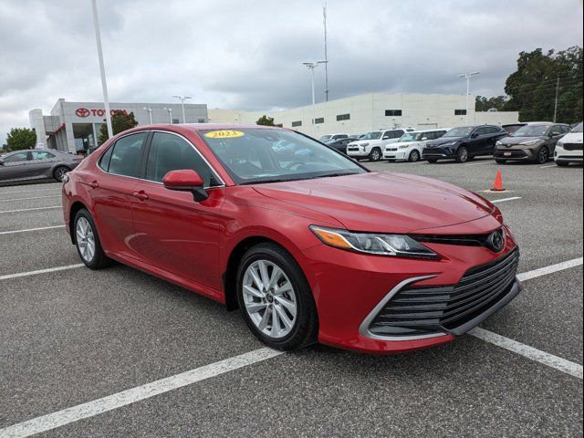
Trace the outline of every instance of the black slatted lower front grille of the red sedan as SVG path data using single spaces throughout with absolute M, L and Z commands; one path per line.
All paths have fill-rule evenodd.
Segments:
M 516 281 L 519 251 L 469 270 L 456 286 L 401 289 L 370 324 L 378 336 L 412 336 L 462 328 L 509 294 Z M 467 328 L 470 329 L 470 328 Z

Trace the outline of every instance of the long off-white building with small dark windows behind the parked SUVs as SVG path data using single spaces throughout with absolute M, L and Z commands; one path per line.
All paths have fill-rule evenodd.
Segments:
M 477 112 L 474 96 L 468 114 L 469 124 L 504 125 L 519 119 L 516 111 Z M 466 96 L 460 94 L 368 93 L 315 105 L 276 111 L 209 110 L 209 121 L 255 123 L 266 114 L 277 125 L 319 137 L 327 133 L 357 134 L 391 128 L 453 128 L 466 123 Z

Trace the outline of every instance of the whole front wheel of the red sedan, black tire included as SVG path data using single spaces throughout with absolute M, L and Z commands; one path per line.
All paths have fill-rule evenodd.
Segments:
M 276 281 L 274 286 L 264 287 L 262 266 L 267 282 Z M 277 277 L 275 267 L 281 271 Z M 278 288 L 286 291 L 278 293 Z M 317 341 L 318 315 L 312 291 L 300 266 L 284 248 L 260 244 L 245 253 L 237 269 L 237 301 L 247 327 L 268 347 L 293 350 Z

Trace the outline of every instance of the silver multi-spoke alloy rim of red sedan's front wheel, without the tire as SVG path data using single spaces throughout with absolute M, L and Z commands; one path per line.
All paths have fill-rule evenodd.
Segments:
M 287 336 L 297 321 L 297 297 L 286 273 L 267 260 L 256 260 L 245 269 L 245 311 L 259 331 L 279 339 Z

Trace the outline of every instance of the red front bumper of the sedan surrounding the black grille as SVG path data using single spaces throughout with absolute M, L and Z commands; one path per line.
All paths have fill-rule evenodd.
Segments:
M 506 230 L 506 228 L 505 228 Z M 497 299 L 460 329 L 426 330 L 409 335 L 371 332 L 371 322 L 391 298 L 406 287 L 454 287 L 475 266 L 492 263 L 516 248 L 506 230 L 506 247 L 497 255 L 485 247 L 427 244 L 441 260 L 360 255 L 327 245 L 304 252 L 312 273 L 308 281 L 318 308 L 318 340 L 327 345 L 369 353 L 399 353 L 454 340 L 505 306 L 520 291 L 513 282 L 505 297 Z

